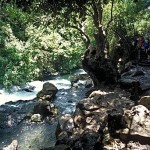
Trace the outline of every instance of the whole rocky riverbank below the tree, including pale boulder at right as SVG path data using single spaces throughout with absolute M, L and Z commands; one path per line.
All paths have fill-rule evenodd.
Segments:
M 103 86 L 60 118 L 56 137 L 57 150 L 149 150 L 150 111 L 134 106 L 129 92 Z

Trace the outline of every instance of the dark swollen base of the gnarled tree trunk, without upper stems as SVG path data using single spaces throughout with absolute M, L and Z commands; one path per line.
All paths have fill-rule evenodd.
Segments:
M 101 44 L 104 45 L 104 43 Z M 116 82 L 117 73 L 111 61 L 100 53 L 98 47 L 89 47 L 85 51 L 82 66 L 92 78 L 95 87 L 100 86 L 102 82 L 107 84 L 114 84 Z

